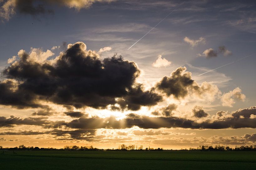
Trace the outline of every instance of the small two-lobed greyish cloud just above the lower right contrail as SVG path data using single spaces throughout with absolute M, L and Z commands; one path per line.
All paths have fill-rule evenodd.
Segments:
M 231 56 L 232 52 L 227 50 L 225 46 L 219 46 L 219 51 L 215 51 L 209 48 L 203 52 L 203 54 L 197 54 L 198 56 L 205 56 L 206 58 L 217 57 L 218 54 L 223 54 L 223 56 Z

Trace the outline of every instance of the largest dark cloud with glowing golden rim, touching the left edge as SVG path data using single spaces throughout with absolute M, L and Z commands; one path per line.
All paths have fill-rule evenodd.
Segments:
M 0 104 L 39 107 L 39 101 L 105 108 L 119 103 L 121 109 L 137 110 L 157 104 L 162 97 L 153 90 L 144 91 L 135 83 L 140 70 L 133 61 L 121 56 L 100 60 L 94 51 L 77 42 L 55 60 L 34 60 L 19 51 L 20 60 L 3 70 L 8 78 L 0 82 Z M 117 100 L 119 98 L 119 100 Z M 122 104 L 118 101 L 123 100 Z M 41 106 L 45 107 L 45 106 Z

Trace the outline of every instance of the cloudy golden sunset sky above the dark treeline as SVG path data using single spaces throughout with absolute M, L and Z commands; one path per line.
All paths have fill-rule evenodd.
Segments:
M 0 145 L 255 145 L 255 7 L 0 0 Z

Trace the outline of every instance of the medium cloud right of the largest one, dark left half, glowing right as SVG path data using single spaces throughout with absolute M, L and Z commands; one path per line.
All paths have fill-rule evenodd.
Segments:
M 170 77 L 163 77 L 156 83 L 155 88 L 176 99 L 185 98 L 190 93 L 199 98 L 206 97 L 208 100 L 214 100 L 215 96 L 219 94 L 219 89 L 215 85 L 207 82 L 198 85 L 196 81 L 192 80 L 191 72 L 186 71 L 186 67 L 178 67 Z

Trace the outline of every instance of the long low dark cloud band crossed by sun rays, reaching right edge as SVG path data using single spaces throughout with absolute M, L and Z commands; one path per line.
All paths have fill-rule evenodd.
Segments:
M 184 129 L 238 129 L 238 128 L 256 128 L 256 119 L 248 113 L 256 115 L 256 106 L 232 112 L 225 117 L 211 117 L 204 121 L 198 122 L 181 117 L 149 117 L 130 114 L 127 118 L 117 120 L 115 117 L 99 118 L 79 118 L 71 122 L 59 122 L 55 126 L 65 126 L 73 129 L 126 129 L 138 126 L 143 129 L 159 128 L 184 128 Z M 243 117 L 241 117 L 243 116 Z

